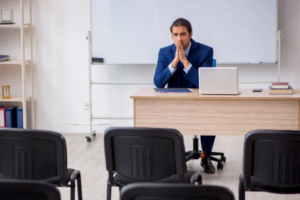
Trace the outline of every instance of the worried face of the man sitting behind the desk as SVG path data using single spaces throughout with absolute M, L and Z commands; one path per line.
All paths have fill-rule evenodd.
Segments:
M 181 42 L 183 50 L 185 50 L 189 45 L 189 39 L 192 36 L 192 32 L 188 35 L 187 28 L 185 26 L 173 26 L 172 27 L 172 38 L 174 44 L 177 46 L 177 40 Z

